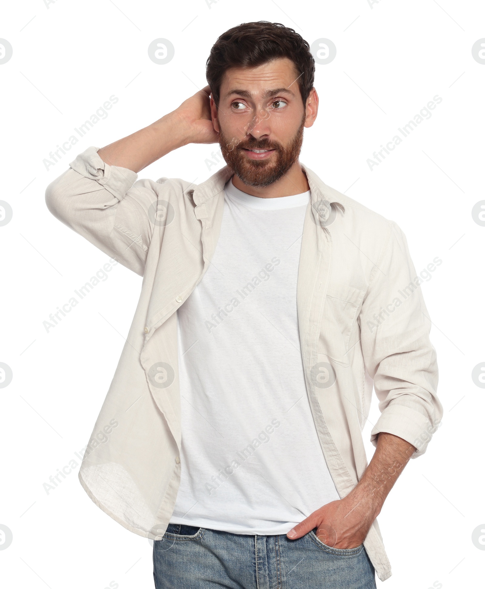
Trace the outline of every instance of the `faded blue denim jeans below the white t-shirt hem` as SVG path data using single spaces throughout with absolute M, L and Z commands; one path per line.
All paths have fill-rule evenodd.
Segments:
M 314 532 L 288 540 L 169 524 L 153 545 L 155 589 L 376 589 L 363 545 L 330 548 Z

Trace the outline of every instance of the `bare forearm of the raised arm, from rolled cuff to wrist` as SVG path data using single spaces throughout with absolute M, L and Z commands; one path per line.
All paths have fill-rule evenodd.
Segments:
M 98 155 L 109 166 L 139 172 L 184 145 L 185 141 L 183 127 L 171 112 L 148 127 L 101 148 Z

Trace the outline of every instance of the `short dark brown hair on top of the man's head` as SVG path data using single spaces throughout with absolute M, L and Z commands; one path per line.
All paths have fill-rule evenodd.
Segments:
M 272 59 L 287 57 L 295 64 L 303 105 L 313 88 L 315 60 L 310 45 L 279 22 L 243 22 L 223 33 L 212 45 L 205 67 L 205 77 L 219 102 L 222 77 L 231 67 L 257 67 Z

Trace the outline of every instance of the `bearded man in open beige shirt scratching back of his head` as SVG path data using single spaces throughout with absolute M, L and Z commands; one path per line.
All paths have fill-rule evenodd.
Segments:
M 59 220 L 143 276 L 79 480 L 154 540 L 157 589 L 375 588 L 374 571 L 391 574 L 376 517 L 441 419 L 406 238 L 298 159 L 314 71 L 293 29 L 234 27 L 207 87 L 88 148 L 46 191 Z M 137 180 L 189 143 L 219 143 L 227 166 L 198 186 Z

